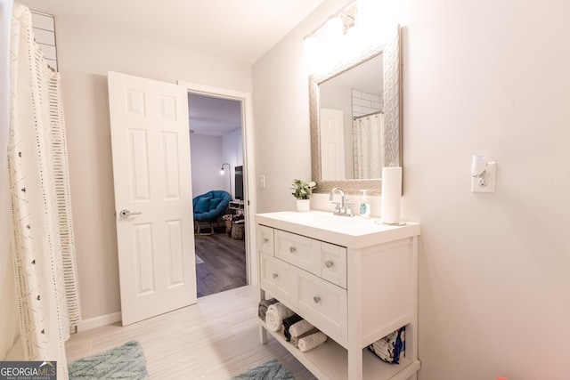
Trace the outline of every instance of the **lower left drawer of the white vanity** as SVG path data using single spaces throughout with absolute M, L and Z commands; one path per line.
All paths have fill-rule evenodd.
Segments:
M 297 304 L 297 268 L 270 255 L 261 255 L 261 287 L 288 305 Z

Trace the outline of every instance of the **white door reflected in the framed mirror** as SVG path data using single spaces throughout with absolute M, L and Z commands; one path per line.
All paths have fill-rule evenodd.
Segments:
M 343 111 L 321 109 L 321 174 L 323 180 L 346 179 Z

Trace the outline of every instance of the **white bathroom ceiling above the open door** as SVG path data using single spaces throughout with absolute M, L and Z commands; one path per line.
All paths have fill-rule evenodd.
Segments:
M 324 0 L 17 0 L 30 9 L 253 65 Z

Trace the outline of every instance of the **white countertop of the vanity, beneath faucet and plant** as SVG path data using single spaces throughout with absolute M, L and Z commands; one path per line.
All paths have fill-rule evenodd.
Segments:
M 379 221 L 379 218 L 346 217 L 315 210 L 256 214 L 258 224 L 355 249 L 419 235 L 419 223 L 392 226 Z

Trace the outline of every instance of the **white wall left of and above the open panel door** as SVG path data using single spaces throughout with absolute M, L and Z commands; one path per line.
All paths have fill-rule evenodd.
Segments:
M 243 92 L 251 92 L 251 74 L 250 68 L 215 57 L 79 24 L 57 14 L 55 22 L 79 287 L 84 319 L 91 319 L 120 310 L 108 70 Z

